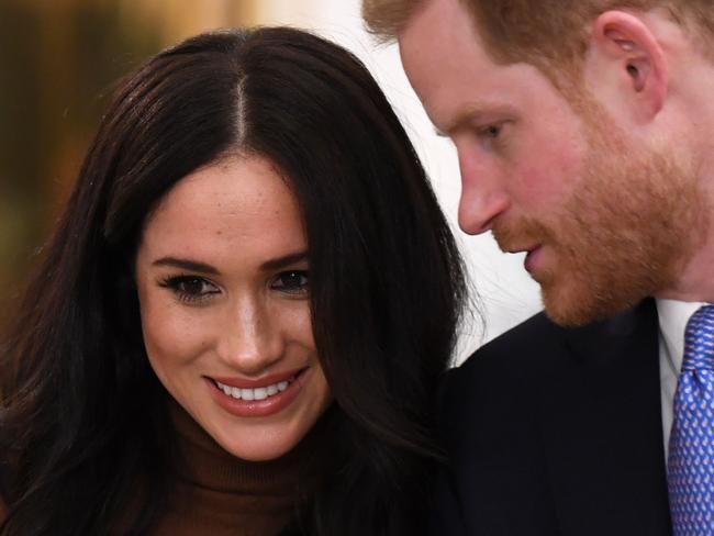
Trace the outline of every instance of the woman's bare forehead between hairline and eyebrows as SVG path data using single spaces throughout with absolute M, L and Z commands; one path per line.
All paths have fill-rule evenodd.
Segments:
M 283 177 L 269 160 L 248 157 L 181 179 L 147 220 L 142 243 L 171 254 L 187 248 L 267 253 L 304 247 L 305 237 L 299 204 Z

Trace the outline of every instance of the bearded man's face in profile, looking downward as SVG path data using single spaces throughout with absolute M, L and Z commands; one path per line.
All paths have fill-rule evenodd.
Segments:
M 594 99 L 566 99 L 533 66 L 495 65 L 458 0 L 427 0 L 399 43 L 458 152 L 459 225 L 527 252 L 550 317 L 583 324 L 676 282 L 704 210 L 673 148 L 635 141 Z

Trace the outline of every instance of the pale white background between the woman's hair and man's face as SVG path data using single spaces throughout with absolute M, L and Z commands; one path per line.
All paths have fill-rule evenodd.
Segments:
M 537 284 L 523 269 L 523 254 L 502 254 L 490 234 L 467 236 L 456 224 L 460 193 L 456 152 L 439 138 L 411 89 L 397 45 L 377 46 L 362 27 L 360 0 L 261 0 L 255 13 L 261 24 L 308 27 L 353 51 L 387 93 L 426 167 L 442 206 L 455 230 L 471 270 L 483 322 L 465 326 L 458 359 L 542 309 Z

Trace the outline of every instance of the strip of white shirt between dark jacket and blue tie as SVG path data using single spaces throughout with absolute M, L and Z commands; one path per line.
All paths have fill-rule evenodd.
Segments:
M 701 302 L 657 300 L 659 316 L 659 380 L 662 401 L 662 432 L 665 459 L 669 456 L 669 434 L 672 428 L 677 379 L 684 356 L 684 330 Z

